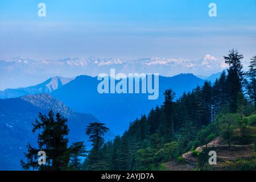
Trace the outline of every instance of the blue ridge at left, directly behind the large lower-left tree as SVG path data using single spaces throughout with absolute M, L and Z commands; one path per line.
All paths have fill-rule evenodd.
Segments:
M 0 99 L 0 169 L 20 169 L 26 145 L 28 142 L 36 144 L 37 135 L 32 134 L 32 123 L 39 112 L 48 113 L 49 109 L 68 118 L 69 143 L 85 141 L 86 146 L 90 146 L 85 127 L 90 122 L 98 121 L 93 115 L 76 113 L 48 94 Z M 110 132 L 106 135 L 106 139 L 112 137 Z

